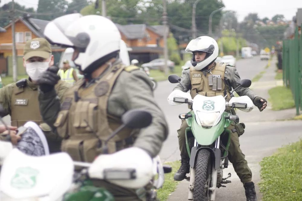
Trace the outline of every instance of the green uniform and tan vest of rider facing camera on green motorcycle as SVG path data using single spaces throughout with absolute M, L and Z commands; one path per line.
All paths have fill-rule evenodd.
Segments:
M 215 62 L 215 67 L 210 72 L 196 71 L 194 68 L 185 69 L 182 72 L 181 83 L 186 87 L 178 84 L 173 90 L 178 89 L 184 92 L 191 90 L 191 96 L 194 98 L 196 94 L 204 96 L 216 96 L 228 94 L 239 85 L 240 76 L 235 67 Z M 249 88 L 239 87 L 236 89 L 239 96 L 247 95 L 254 102 L 256 94 Z M 178 132 L 179 149 L 182 160 L 188 160 L 188 152 L 185 142 L 185 129 L 188 127 L 186 121 L 182 121 L 182 125 Z M 243 134 L 243 127 L 240 124 L 233 123 L 228 129 L 231 130 L 231 142 L 229 147 L 229 161 L 240 178 L 242 183 L 252 181 L 252 172 L 247 165 L 245 155 L 240 149 L 239 136 Z M 238 133 L 239 132 L 239 133 Z

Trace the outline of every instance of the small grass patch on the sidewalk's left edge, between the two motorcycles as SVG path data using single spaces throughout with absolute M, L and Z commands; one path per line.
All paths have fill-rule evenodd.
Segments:
M 172 172 L 165 174 L 165 183 L 162 188 L 157 191 L 157 197 L 160 201 L 167 200 L 170 193 L 175 191 L 176 186 L 179 183 L 179 181 L 174 181 L 173 177 L 178 168 L 180 167 L 180 161 L 174 161 L 165 164 L 172 166 Z

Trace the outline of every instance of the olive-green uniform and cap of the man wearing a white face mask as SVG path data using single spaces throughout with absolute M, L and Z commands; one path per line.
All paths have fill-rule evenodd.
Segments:
M 33 46 L 32 44 L 36 46 Z M 49 58 L 50 54 L 50 44 L 43 38 L 29 40 L 24 47 L 25 60 L 33 56 Z M 71 86 L 71 84 L 64 81 L 59 81 L 55 86 L 55 90 L 60 101 L 63 101 L 65 91 Z M 11 116 L 11 126 L 20 127 L 23 126 L 27 121 L 34 121 L 40 125 L 41 129 L 43 130 L 49 144 L 50 152 L 53 153 L 60 151 L 62 139 L 60 139 L 55 132 L 52 132 L 50 126 L 48 126 L 46 123 L 43 123 L 38 106 L 38 86 L 31 81 L 31 78 L 22 79 L 16 83 L 11 83 L 1 88 L 0 104 L 2 104 L 4 109 L 2 115 Z M 1 139 L 3 140 L 5 137 L 1 136 Z

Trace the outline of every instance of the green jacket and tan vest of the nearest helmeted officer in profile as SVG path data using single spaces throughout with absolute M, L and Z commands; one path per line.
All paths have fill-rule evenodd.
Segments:
M 108 142 L 108 152 L 136 146 L 155 157 L 167 138 L 168 126 L 151 86 L 146 73 L 136 66 L 125 67 L 117 60 L 99 78 L 76 83 L 66 92 L 61 108 L 54 99 L 54 90 L 40 92 L 40 110 L 43 119 L 63 138 L 62 151 L 68 152 L 73 160 L 88 162 L 102 153 L 104 140 L 121 125 L 120 118 L 127 110 L 149 111 L 153 116 L 151 125 L 141 130 L 123 129 Z M 108 189 L 116 201 L 145 200 L 136 189 L 100 180 L 94 184 Z

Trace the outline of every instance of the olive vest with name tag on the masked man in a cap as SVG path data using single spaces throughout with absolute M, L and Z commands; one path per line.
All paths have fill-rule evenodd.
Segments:
M 60 80 L 56 84 L 56 91 L 58 91 L 62 82 Z M 32 88 L 28 85 L 32 85 Z M 13 87 L 11 96 L 11 126 L 23 126 L 28 121 L 33 121 L 38 125 L 43 123 L 39 108 L 38 88 L 26 80 L 24 87 L 17 87 L 16 85 Z

